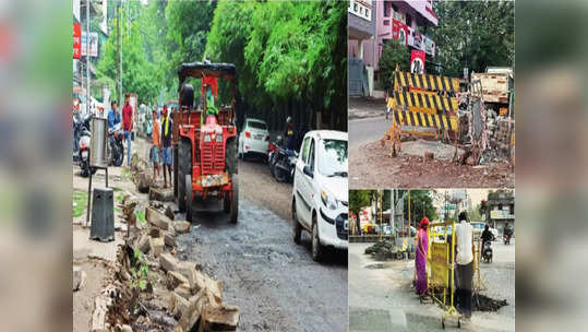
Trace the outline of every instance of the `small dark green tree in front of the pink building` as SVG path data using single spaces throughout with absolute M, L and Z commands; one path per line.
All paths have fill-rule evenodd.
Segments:
M 394 71 L 396 66 L 400 71 L 410 71 L 410 51 L 406 45 L 398 40 L 388 39 L 383 47 L 382 57 L 377 63 L 380 69 L 380 82 L 389 91 L 394 86 Z

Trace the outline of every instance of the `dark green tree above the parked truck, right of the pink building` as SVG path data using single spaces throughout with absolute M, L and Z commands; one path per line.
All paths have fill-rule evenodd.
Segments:
M 443 74 L 460 76 L 484 72 L 487 67 L 514 64 L 514 1 L 435 1 L 439 26 L 430 36 L 436 43 L 435 62 Z

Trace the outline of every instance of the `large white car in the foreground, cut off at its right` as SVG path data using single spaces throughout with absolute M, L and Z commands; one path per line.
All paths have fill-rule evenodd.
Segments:
M 293 240 L 302 229 L 312 235 L 312 258 L 324 247 L 347 249 L 349 234 L 347 133 L 331 130 L 304 135 L 292 189 Z

